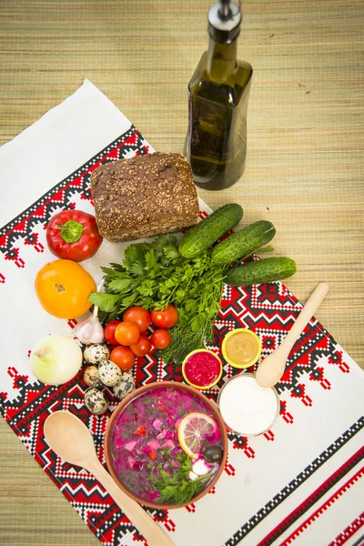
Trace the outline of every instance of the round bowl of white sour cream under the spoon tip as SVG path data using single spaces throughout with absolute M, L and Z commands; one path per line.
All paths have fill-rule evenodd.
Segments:
M 279 397 L 274 387 L 260 387 L 254 373 L 239 373 L 228 379 L 217 398 L 227 428 L 242 436 L 267 432 L 277 420 Z

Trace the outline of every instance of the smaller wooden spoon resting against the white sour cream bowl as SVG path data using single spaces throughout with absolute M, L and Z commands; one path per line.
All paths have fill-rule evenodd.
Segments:
M 258 366 L 256 379 L 260 387 L 273 387 L 284 374 L 288 355 L 309 320 L 318 310 L 322 300 L 329 292 L 326 283 L 320 282 L 307 300 L 307 303 L 298 315 L 298 319 L 288 331 L 286 338 L 268 357 Z

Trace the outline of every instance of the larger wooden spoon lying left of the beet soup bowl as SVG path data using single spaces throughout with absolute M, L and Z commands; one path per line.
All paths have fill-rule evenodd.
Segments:
M 167 534 L 136 501 L 121 490 L 97 459 L 94 440 L 86 425 L 68 411 L 56 411 L 45 420 L 45 440 L 58 457 L 83 467 L 110 493 L 116 504 L 142 533 L 150 546 L 173 546 Z

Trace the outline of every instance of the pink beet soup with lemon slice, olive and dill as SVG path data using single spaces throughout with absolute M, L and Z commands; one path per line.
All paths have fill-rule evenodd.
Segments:
M 148 502 L 184 504 L 213 480 L 223 457 L 217 420 L 193 393 L 156 387 L 117 417 L 111 460 L 126 489 Z

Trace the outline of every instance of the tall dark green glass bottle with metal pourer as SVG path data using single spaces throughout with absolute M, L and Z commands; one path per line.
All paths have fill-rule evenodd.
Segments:
M 195 184 L 230 187 L 242 176 L 247 156 L 247 109 L 252 67 L 237 61 L 241 13 L 230 0 L 208 12 L 208 50 L 188 84 L 185 154 Z

